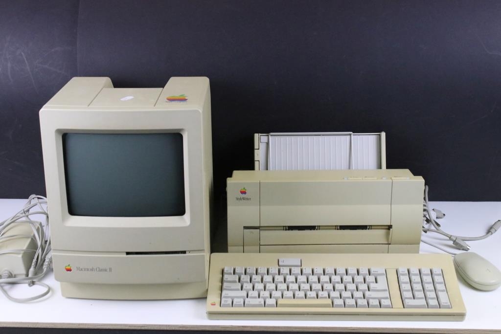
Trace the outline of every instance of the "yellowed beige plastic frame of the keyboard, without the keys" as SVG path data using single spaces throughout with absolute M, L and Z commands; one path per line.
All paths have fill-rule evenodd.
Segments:
M 279 258 L 301 258 L 303 267 L 386 268 L 393 308 L 326 307 L 220 307 L 222 270 L 225 266 L 278 266 Z M 398 267 L 442 268 L 452 308 L 403 308 L 396 269 Z M 207 316 L 210 319 L 301 319 L 301 320 L 463 320 L 466 315 L 452 258 L 446 254 L 230 254 L 210 257 Z

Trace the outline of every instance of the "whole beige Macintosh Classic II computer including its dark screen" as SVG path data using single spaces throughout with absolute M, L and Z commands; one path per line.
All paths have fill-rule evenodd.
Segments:
M 55 278 L 66 297 L 204 297 L 212 188 L 207 78 L 73 78 L 40 111 Z

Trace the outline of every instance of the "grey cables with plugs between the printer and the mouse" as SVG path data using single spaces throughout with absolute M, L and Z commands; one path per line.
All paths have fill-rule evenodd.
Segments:
M 435 209 L 433 209 L 433 210 L 435 210 Z M 460 250 L 467 251 L 470 249 L 470 246 L 466 243 L 466 241 L 476 241 L 476 240 L 485 239 L 485 238 L 489 237 L 490 235 L 494 234 L 501 227 L 501 219 L 500 219 L 500 220 L 497 220 L 496 222 L 494 222 L 490 226 L 487 233 L 485 233 L 484 235 L 476 236 L 476 237 L 453 235 L 453 234 L 449 234 L 449 233 L 445 232 L 444 230 L 442 230 L 440 228 L 441 227 L 440 224 L 438 224 L 435 220 L 439 215 L 441 217 L 444 217 L 445 215 L 440 210 L 435 210 L 435 211 L 433 211 L 433 210 L 430 209 L 430 205 L 428 202 L 428 186 L 425 186 L 424 187 L 424 200 L 423 200 L 423 223 L 424 223 L 423 228 L 422 228 L 423 232 L 424 233 L 434 232 L 434 233 L 441 234 L 441 235 L 447 237 L 449 240 L 451 240 L 452 243 L 454 244 L 454 246 L 456 246 Z M 425 227 L 425 225 L 427 225 L 427 224 L 431 224 L 432 226 Z M 430 244 L 429 242 L 425 242 L 425 243 Z M 432 245 L 432 246 L 435 246 L 435 245 Z

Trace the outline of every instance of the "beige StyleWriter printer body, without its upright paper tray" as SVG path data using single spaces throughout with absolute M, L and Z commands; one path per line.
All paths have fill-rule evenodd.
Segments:
M 407 169 L 234 171 L 228 252 L 417 253 L 423 190 Z

